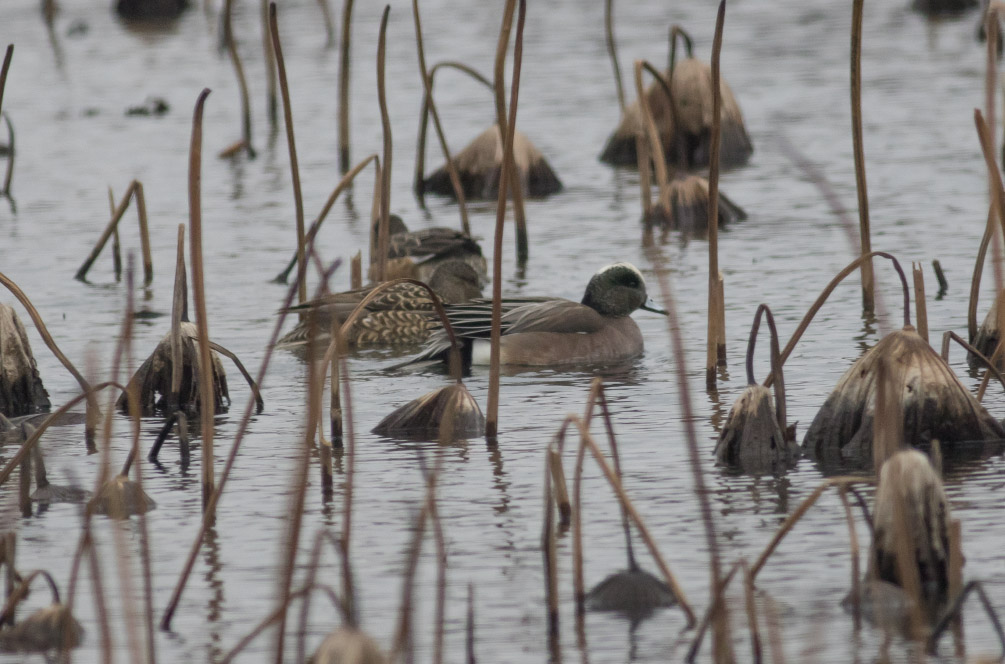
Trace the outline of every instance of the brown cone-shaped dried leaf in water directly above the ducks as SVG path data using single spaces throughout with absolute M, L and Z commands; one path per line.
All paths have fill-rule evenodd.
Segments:
M 540 197 L 562 191 L 562 182 L 544 155 L 520 130 L 517 130 L 513 137 L 513 155 L 517 176 L 526 195 Z M 498 125 L 492 125 L 479 134 L 454 156 L 453 163 L 460 177 L 464 198 L 472 200 L 498 198 L 499 170 L 502 166 L 502 139 Z M 454 195 L 450 174 L 445 166 L 441 166 L 426 178 L 423 187 L 423 191 L 431 194 Z

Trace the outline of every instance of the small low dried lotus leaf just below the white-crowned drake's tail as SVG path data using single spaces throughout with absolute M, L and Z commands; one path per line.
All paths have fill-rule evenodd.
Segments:
M 474 397 L 457 382 L 408 402 L 385 417 L 373 432 L 389 438 L 466 439 L 484 433 L 485 418 Z

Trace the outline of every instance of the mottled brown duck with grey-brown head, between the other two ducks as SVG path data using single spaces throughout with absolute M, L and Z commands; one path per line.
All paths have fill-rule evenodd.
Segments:
M 325 341 L 330 338 L 332 316 L 341 323 L 375 287 L 333 293 L 293 306 L 291 310 L 316 311 L 318 318 L 313 324 L 316 325 L 318 340 Z M 466 302 L 481 295 L 481 280 L 477 272 L 460 260 L 440 263 L 429 279 L 429 287 L 446 304 Z M 346 341 L 350 345 L 369 347 L 421 344 L 429 337 L 430 330 L 438 326 L 432 311 L 433 302 L 425 288 L 414 283 L 400 283 L 367 304 L 366 313 L 349 330 Z M 298 323 L 279 340 L 278 346 L 306 344 L 311 324 L 308 320 Z

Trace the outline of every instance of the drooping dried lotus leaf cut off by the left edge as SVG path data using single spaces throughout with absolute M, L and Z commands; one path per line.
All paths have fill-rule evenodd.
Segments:
M 10 417 L 49 410 L 24 325 L 12 306 L 0 303 L 0 414 Z

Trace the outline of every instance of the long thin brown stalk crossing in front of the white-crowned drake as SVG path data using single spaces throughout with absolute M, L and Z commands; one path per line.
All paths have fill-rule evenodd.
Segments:
M 511 17 L 510 11 L 514 0 L 507 1 L 506 14 Z M 527 17 L 527 0 L 520 0 L 520 12 L 517 17 L 517 43 L 513 53 L 513 82 L 510 98 L 510 130 L 501 136 L 505 138 L 502 148 L 502 168 L 499 172 L 499 192 L 498 202 L 495 206 L 495 242 L 492 248 L 492 329 L 491 329 L 491 351 L 488 361 L 488 404 L 485 414 L 485 438 L 494 440 L 498 434 L 498 407 L 499 407 L 499 339 L 502 328 L 502 226 L 506 222 L 506 201 L 507 188 L 513 186 L 520 188 L 520 182 L 511 183 L 513 175 L 513 141 L 517 128 L 517 101 L 520 96 L 520 67 L 524 51 L 524 22 Z M 509 37 L 509 27 L 504 20 L 504 33 Z M 501 39 L 500 39 L 501 45 Z M 505 51 L 504 51 L 505 54 Z M 501 64 L 496 59 L 496 85 L 499 84 Z M 514 207 L 517 207 L 516 199 Z M 520 230 L 518 229 L 518 234 Z M 526 239 L 526 238 L 525 238 Z M 518 241 L 519 244 L 519 241 Z M 526 256 L 525 256 L 526 258 Z

